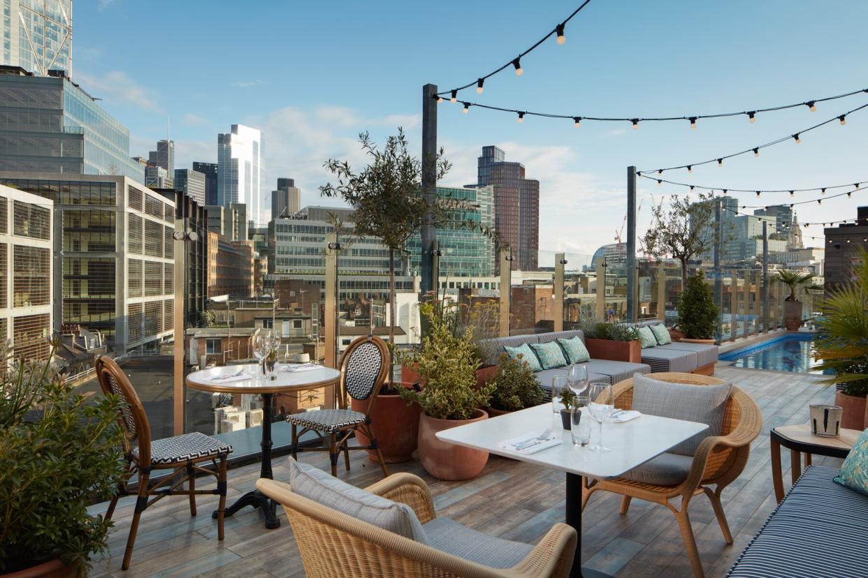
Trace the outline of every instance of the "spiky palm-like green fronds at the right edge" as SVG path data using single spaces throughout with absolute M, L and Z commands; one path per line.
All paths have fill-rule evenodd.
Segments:
M 868 251 L 859 248 L 855 280 L 825 297 L 823 315 L 817 319 L 814 357 L 821 370 L 835 373 L 828 386 L 841 384 L 847 395 L 868 395 Z

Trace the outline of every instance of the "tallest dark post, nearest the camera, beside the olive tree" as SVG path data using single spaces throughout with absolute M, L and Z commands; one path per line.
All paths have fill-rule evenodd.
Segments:
M 437 85 L 422 87 L 422 194 L 431 205 L 437 198 Z M 422 227 L 422 294 L 436 289 L 434 250 L 437 231 L 429 221 Z

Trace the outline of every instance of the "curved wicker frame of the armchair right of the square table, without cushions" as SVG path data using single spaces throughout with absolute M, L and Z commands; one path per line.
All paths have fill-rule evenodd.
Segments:
M 651 373 L 648 378 L 684 383 L 694 386 L 713 386 L 725 383 L 705 375 L 695 373 Z M 615 395 L 615 407 L 630 409 L 633 405 L 633 379 L 623 380 L 612 386 Z M 596 490 L 607 490 L 621 494 L 621 514 L 626 514 L 630 500 L 634 497 L 648 502 L 661 503 L 675 515 L 681 537 L 687 549 L 687 557 L 695 576 L 703 576 L 702 562 L 696 540 L 690 526 L 687 509 L 694 496 L 705 493 L 711 501 L 714 516 L 720 523 L 720 530 L 727 544 L 733 543 L 733 535 L 729 531 L 727 516 L 720 503 L 720 492 L 740 476 L 745 469 L 747 457 L 751 451 L 751 442 L 759 435 L 762 427 L 762 412 L 749 395 L 739 387 L 733 386 L 732 393 L 724 408 L 723 425 L 720 436 L 705 438 L 694 454 L 690 473 L 681 484 L 664 486 L 635 482 L 622 477 L 611 480 L 589 480 L 582 478 L 582 510 L 588 503 L 588 498 Z M 638 443 L 638 442 L 637 442 Z M 715 486 L 714 490 L 710 486 Z M 681 497 L 680 507 L 670 503 L 673 498 Z

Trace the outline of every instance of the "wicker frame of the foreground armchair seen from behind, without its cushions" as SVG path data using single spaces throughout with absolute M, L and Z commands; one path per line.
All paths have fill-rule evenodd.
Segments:
M 293 493 L 288 484 L 260 478 L 256 487 L 283 504 L 310 578 L 566 578 L 575 553 L 575 529 L 556 523 L 522 562 L 513 568 L 490 568 L 327 508 Z M 406 503 L 423 524 L 437 516 L 428 486 L 412 474 L 393 474 L 367 490 Z

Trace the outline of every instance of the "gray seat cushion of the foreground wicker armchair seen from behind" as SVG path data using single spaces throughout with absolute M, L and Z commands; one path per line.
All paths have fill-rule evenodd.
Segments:
M 533 550 L 529 544 L 489 536 L 450 518 L 434 518 L 423 528 L 432 548 L 490 568 L 511 568 Z

